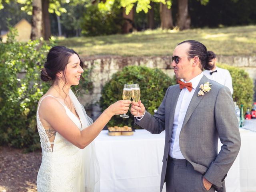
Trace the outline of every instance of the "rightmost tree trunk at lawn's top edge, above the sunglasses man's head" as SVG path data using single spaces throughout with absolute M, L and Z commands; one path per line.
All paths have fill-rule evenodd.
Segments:
M 180 30 L 189 29 L 190 23 L 188 0 L 178 0 L 178 27 Z

